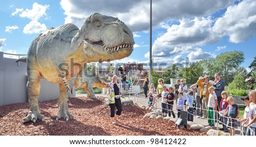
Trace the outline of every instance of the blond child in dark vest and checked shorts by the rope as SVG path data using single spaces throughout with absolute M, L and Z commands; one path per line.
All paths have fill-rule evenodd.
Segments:
M 232 96 L 229 96 L 228 99 L 226 99 L 226 102 L 229 103 L 229 106 L 227 107 L 227 111 L 225 112 L 225 114 L 221 116 L 225 116 L 226 114 L 228 114 L 228 121 L 226 124 L 230 128 L 230 136 L 234 136 L 235 128 L 237 128 L 236 119 L 238 119 L 240 111 L 237 104 L 234 103 L 234 98 Z

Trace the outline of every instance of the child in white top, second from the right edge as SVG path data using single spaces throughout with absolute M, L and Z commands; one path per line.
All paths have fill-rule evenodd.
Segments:
M 239 120 L 243 121 L 243 123 L 242 123 L 242 133 L 243 133 L 243 135 L 246 135 L 247 127 L 245 127 L 245 125 L 247 125 L 248 121 L 249 121 L 249 107 L 250 107 L 251 101 L 249 99 L 249 95 L 246 95 L 245 98 L 241 98 L 241 99 L 245 103 L 246 107 L 245 107 L 245 113 L 243 114 L 243 116 L 241 116 L 239 118 Z

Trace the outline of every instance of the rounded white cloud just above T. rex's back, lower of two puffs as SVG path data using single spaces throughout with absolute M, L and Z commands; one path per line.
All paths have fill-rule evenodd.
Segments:
M 46 24 L 41 24 L 35 20 L 32 20 L 30 23 L 28 23 L 24 29 L 24 33 L 39 33 L 41 31 L 46 30 Z

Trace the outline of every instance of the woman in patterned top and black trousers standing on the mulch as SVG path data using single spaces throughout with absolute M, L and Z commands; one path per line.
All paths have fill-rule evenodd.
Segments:
M 102 81 L 102 84 L 108 88 L 108 99 L 110 106 L 110 120 L 113 124 L 116 124 L 115 121 L 120 121 L 118 117 L 122 112 L 122 103 L 120 99 L 121 91 L 119 91 L 119 86 L 117 84 L 117 75 L 114 75 L 112 82 L 106 83 Z M 115 113 L 115 107 L 117 107 L 117 112 Z

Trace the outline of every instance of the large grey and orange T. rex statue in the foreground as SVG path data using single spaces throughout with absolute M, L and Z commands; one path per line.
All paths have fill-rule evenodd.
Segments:
M 71 75 L 84 71 L 85 63 L 130 56 L 133 45 L 133 33 L 123 22 L 97 13 L 86 19 L 81 30 L 74 24 L 65 24 L 40 33 L 32 41 L 27 53 L 30 111 L 22 120 L 23 123 L 35 123 L 37 119 L 43 121 L 38 106 L 41 77 L 49 82 L 59 83 L 59 112 L 56 119 L 75 119 L 68 111 L 67 89 L 61 77 L 69 82 Z M 80 64 L 82 68 L 71 66 L 71 61 Z

